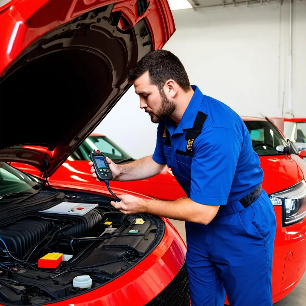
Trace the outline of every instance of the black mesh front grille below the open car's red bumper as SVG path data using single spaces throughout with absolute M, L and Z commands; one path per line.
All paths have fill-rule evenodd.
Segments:
M 145 306 L 190 306 L 185 263 L 172 282 Z

